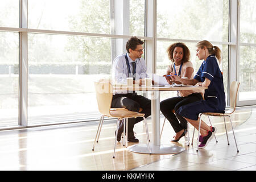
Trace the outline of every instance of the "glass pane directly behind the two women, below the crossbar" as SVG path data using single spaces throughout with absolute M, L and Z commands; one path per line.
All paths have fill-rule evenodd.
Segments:
M 164 42 L 164 41 L 158 41 L 157 42 L 157 49 L 156 49 L 156 74 L 158 75 L 165 75 L 167 66 L 170 65 L 172 62 L 168 59 L 167 55 L 167 48 L 175 42 Z M 199 60 L 196 56 L 196 47 L 195 43 L 185 43 L 186 46 L 189 48 L 191 59 L 190 61 L 193 63 L 194 68 L 194 75 L 200 68 L 202 60 Z M 222 46 L 222 45 L 213 45 L 218 46 L 222 51 L 222 61 L 220 64 L 221 72 L 223 72 L 223 78 L 224 78 L 224 90 L 226 94 L 226 104 L 228 103 L 228 46 Z M 166 98 L 170 97 L 176 97 L 176 92 L 162 92 L 160 93 L 160 100 L 164 100 Z

